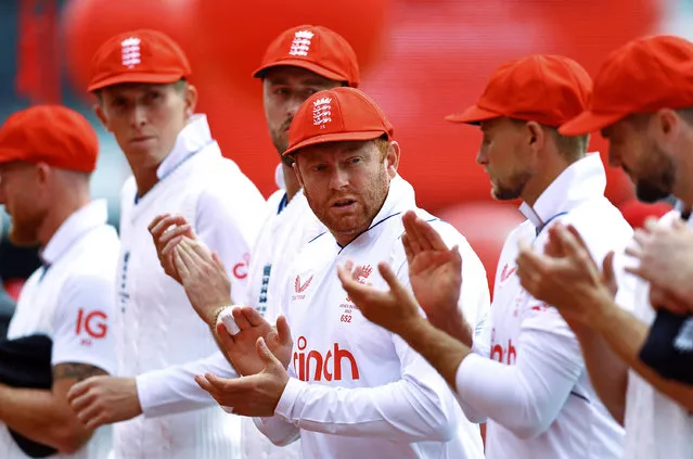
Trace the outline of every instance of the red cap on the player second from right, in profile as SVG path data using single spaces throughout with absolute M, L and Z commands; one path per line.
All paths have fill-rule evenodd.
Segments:
M 535 54 L 496 68 L 476 105 L 446 119 L 478 124 L 508 116 L 559 127 L 587 106 L 592 80 L 577 62 Z

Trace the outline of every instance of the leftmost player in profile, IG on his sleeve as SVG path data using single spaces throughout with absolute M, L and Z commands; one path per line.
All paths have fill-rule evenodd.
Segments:
M 75 383 L 116 367 L 112 318 L 119 242 L 106 224 L 105 201 L 89 197 L 98 154 L 89 122 L 63 106 L 17 112 L 0 128 L 0 203 L 12 217 L 10 240 L 39 245 L 43 264 L 24 284 L 11 341 L 2 343 L 3 459 L 102 459 L 111 450 L 111 426 L 85 428 L 67 403 Z M 24 352 L 14 350 L 25 358 L 8 361 L 12 353 L 5 348 L 21 342 Z

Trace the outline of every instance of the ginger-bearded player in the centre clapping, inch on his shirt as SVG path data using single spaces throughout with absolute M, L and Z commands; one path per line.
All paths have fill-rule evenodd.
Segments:
M 273 443 L 300 436 L 306 458 L 482 458 L 478 426 L 464 418 L 445 381 L 402 340 L 369 323 L 336 276 L 338 264 L 355 259 L 362 265 L 359 280 L 378 285 L 383 281 L 374 266 L 387 259 L 407 280 L 401 215 L 415 209 L 465 259 L 464 286 L 458 292 L 464 314 L 472 323 L 486 315 L 489 297 L 480 260 L 454 228 L 416 209 L 413 188 L 397 175 L 399 145 L 393 130 L 357 89 L 320 91 L 301 105 L 286 154 L 294 155 L 308 203 L 329 231 L 296 256 L 280 298 L 293 349 L 281 340 L 285 321 L 278 321 L 277 340 L 266 333 L 266 321 L 243 308 L 234 314 L 238 334 L 222 337 L 224 327 L 218 330 L 246 375 L 207 374 L 197 381 L 233 412 L 265 417 L 256 424 Z M 191 302 L 214 308 L 219 305 L 208 302 L 209 278 L 198 267 L 204 257 L 194 241 L 176 247 Z M 258 334 L 265 340 L 256 344 Z M 257 346 L 259 365 L 248 343 Z M 254 371 L 245 371 L 252 358 Z

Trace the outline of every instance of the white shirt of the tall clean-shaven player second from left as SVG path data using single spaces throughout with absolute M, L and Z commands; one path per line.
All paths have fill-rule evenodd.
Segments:
M 147 226 L 159 214 L 184 216 L 227 264 L 232 296 L 245 298 L 249 253 L 266 218 L 266 202 L 231 160 L 221 156 L 204 115 L 195 115 L 161 164 L 159 181 L 137 200 L 130 179 L 123 189 L 117 273 L 118 373 L 137 377 L 142 406 L 155 397 L 146 374 L 201 364 L 217 352 L 209 328 L 183 288 L 165 275 Z M 216 406 L 115 424 L 116 458 L 221 459 L 239 449 L 236 417 Z

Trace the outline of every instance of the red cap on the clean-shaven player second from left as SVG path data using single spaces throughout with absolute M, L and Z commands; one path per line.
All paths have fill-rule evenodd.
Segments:
M 185 53 L 167 35 L 147 29 L 126 31 L 97 50 L 87 90 L 121 82 L 168 84 L 191 74 Z

